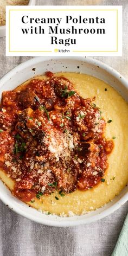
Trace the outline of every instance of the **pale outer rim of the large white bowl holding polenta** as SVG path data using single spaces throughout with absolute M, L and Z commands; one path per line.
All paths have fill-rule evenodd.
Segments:
M 22 69 L 25 69 L 25 68 L 29 67 L 29 65 L 30 66 L 31 65 L 36 65 L 36 63 L 38 63 L 38 62 L 48 61 L 50 59 L 51 59 L 50 56 L 43 56 L 43 57 L 34 57 L 30 60 L 22 62 L 20 65 L 16 66 L 15 68 L 12 68 L 11 71 L 9 71 L 7 74 L 3 75 L 3 77 L 0 79 L 0 86 L 3 85 L 5 82 L 7 82 L 9 80 L 9 76 L 11 76 L 12 73 L 20 72 L 20 71 L 22 71 Z M 105 69 L 111 75 L 115 76 L 119 81 L 120 81 L 120 78 L 121 78 L 121 84 L 123 84 L 123 86 L 126 89 L 128 89 L 128 81 L 120 73 L 118 73 L 116 70 L 114 70 L 110 66 L 106 65 L 105 63 L 95 59 L 94 57 L 53 56 L 52 59 L 53 60 L 60 60 L 60 59 L 65 59 L 65 60 L 66 59 L 68 59 L 68 60 L 71 59 L 71 60 L 73 60 L 74 59 L 74 60 L 84 61 L 84 62 L 90 63 L 90 64 L 94 65 L 95 67 L 99 66 L 100 68 Z M 34 216 L 34 214 L 30 214 L 28 212 L 25 212 L 21 208 L 18 208 L 18 206 L 16 206 L 16 205 L 14 206 L 14 204 L 12 202 L 10 202 L 8 195 L 3 196 L 0 193 L 0 199 L 3 201 L 4 204 L 8 204 L 9 208 L 12 209 L 14 212 L 16 212 L 16 213 L 18 213 L 18 214 L 20 214 L 24 217 L 27 217 L 27 219 L 29 219 L 29 220 L 35 221 L 37 223 L 41 223 L 43 225 L 48 225 L 48 226 L 70 227 L 70 226 L 78 226 L 78 225 L 84 225 L 86 223 L 91 223 L 91 222 L 100 220 L 103 217 L 106 217 L 109 214 L 113 213 L 115 210 L 117 210 L 121 205 L 123 205 L 128 200 L 128 191 L 126 191 L 126 193 L 117 202 L 115 202 L 112 206 L 109 205 L 108 208 L 104 209 L 103 212 L 101 212 L 100 214 L 96 214 L 94 216 L 89 216 L 87 218 L 85 217 L 85 219 L 79 219 L 79 216 L 78 216 L 78 220 L 73 220 L 73 221 L 71 221 L 70 217 L 66 217 L 67 218 L 66 221 L 61 221 L 61 219 L 60 220 L 57 220 L 57 219 L 56 220 L 50 220 L 49 216 L 48 216 L 47 220 L 43 219 L 43 217 L 42 217 L 42 220 L 39 220 L 37 216 Z M 43 216 L 43 214 L 42 214 L 42 216 Z

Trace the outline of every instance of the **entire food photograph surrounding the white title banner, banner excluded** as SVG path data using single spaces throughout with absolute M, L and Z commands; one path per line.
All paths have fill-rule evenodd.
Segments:
M 122 56 L 6 56 L 6 5 L 122 5 Z M 128 255 L 127 1 L 0 0 L 0 256 Z

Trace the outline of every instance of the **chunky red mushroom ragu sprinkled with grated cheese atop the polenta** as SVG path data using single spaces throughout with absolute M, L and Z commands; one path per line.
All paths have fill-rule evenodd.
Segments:
M 66 78 L 46 76 L 2 94 L 0 167 L 22 201 L 92 189 L 104 180 L 113 149 L 94 98 L 81 98 Z

